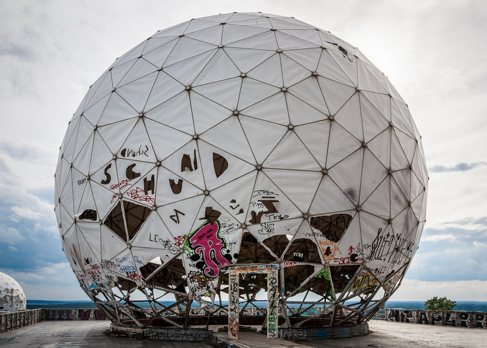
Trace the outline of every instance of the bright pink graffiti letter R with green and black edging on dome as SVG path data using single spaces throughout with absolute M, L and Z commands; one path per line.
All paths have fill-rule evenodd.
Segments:
M 188 238 L 189 247 L 195 254 L 202 256 L 204 262 L 203 272 L 208 278 L 216 278 L 220 274 L 220 266 L 232 264 L 222 254 L 225 241 L 218 236 L 220 222 L 211 224 L 206 222 Z

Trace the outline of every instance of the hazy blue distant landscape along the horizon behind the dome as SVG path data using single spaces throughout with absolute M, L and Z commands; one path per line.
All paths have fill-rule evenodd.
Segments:
M 170 305 L 173 302 L 161 301 L 163 305 Z M 222 301 L 223 304 L 228 304 Z M 265 307 L 266 301 L 256 302 L 258 306 Z M 149 307 L 148 302 L 140 302 L 139 305 L 144 308 Z M 199 304 L 193 302 L 192 307 L 199 307 Z M 47 300 L 27 300 L 27 309 L 36 308 L 96 308 L 92 301 L 47 301 Z M 425 309 L 424 301 L 387 301 L 385 308 L 400 308 L 400 309 Z M 454 310 L 464 311 L 479 311 L 487 312 L 487 302 L 481 301 L 457 301 L 457 306 Z

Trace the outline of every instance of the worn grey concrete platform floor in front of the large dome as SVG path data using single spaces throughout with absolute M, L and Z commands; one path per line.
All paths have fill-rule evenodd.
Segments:
M 285 341 L 267 339 L 256 332 L 241 332 L 241 339 L 229 341 L 210 327 L 221 343 L 165 342 L 136 340 L 106 335 L 110 321 L 44 321 L 21 329 L 0 334 L 0 348 L 152 348 L 152 347 L 213 347 L 213 348 L 409 348 L 409 347 L 451 347 L 486 348 L 487 330 L 448 326 L 391 323 L 372 320 L 370 333 L 353 338 L 328 340 Z

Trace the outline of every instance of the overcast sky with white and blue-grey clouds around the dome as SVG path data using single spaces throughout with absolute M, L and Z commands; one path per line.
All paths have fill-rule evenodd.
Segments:
M 420 248 L 392 300 L 487 301 L 484 0 L 0 0 L 0 271 L 27 299 L 88 299 L 61 250 L 54 171 L 89 86 L 157 30 L 266 12 L 358 47 L 408 103 L 429 169 Z

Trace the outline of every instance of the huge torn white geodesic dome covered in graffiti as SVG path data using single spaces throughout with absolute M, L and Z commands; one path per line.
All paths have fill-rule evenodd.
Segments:
M 113 321 L 186 326 L 160 308 L 184 318 L 192 301 L 225 313 L 228 268 L 268 265 L 286 325 L 311 303 L 308 324 L 336 326 L 399 286 L 428 175 L 406 103 L 357 48 L 230 13 L 117 58 L 69 123 L 55 182 L 63 250 Z M 255 269 L 248 304 L 268 290 Z

